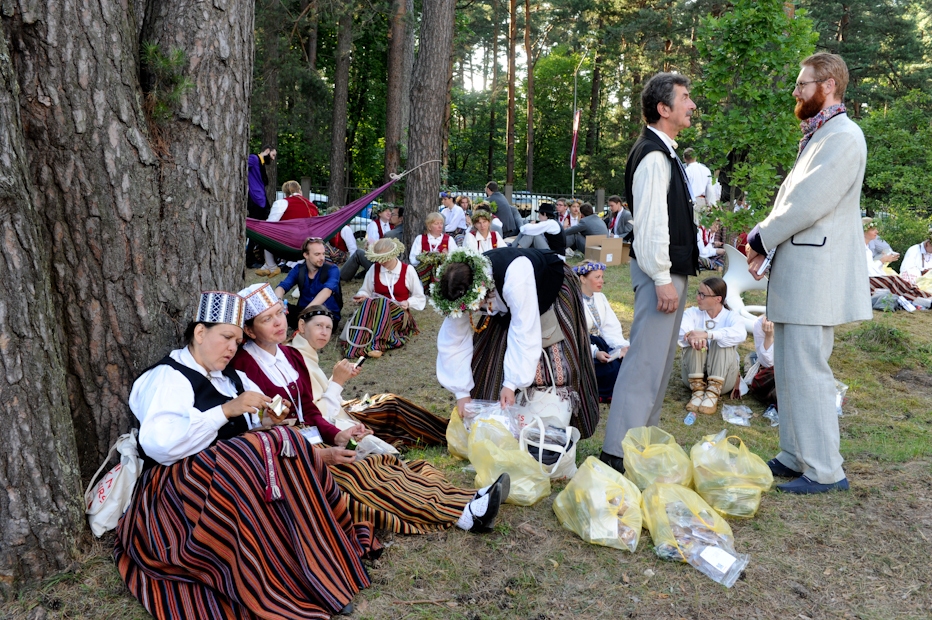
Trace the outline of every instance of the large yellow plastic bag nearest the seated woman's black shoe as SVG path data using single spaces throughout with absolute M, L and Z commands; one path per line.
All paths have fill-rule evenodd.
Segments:
M 504 472 L 511 476 L 509 504 L 531 506 L 550 495 L 550 473 L 518 445 L 503 424 L 479 418 L 469 433 L 469 460 L 476 468 L 476 488 L 495 482 Z

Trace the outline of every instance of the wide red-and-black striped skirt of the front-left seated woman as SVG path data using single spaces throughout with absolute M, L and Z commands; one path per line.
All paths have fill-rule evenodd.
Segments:
M 218 441 L 140 478 L 114 558 L 156 618 L 330 618 L 369 585 L 378 550 L 320 454 L 288 429 L 295 457 L 272 459 L 282 497 L 266 501 L 259 433 Z M 373 554 L 374 555 L 374 554 Z

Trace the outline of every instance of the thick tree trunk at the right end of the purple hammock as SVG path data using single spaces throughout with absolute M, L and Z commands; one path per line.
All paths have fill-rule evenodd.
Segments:
M 411 80 L 411 126 L 408 167 L 414 168 L 405 188 L 405 238 L 411 247 L 424 227 L 427 213 L 437 208 L 440 191 L 441 130 L 446 105 L 447 76 L 453 46 L 456 0 L 425 2 L 420 45 Z M 426 163 L 431 162 L 431 163 Z

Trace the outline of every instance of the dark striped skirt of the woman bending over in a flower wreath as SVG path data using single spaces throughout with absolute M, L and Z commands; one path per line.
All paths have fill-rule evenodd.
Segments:
M 563 287 L 553 309 L 564 339 L 547 347 L 543 354 L 550 356 L 558 379 L 565 371 L 565 378 L 563 381 L 558 380 L 557 386 L 569 389 L 573 401 L 573 418 L 570 423 L 579 429 L 585 439 L 592 436 L 599 424 L 599 386 L 589 350 L 589 332 L 579 278 L 566 265 L 563 266 L 563 272 Z M 511 317 L 495 314 L 487 320 L 489 326 L 473 336 L 472 374 L 475 387 L 472 397 L 498 400 L 505 377 L 505 349 Z M 539 363 L 535 384 L 552 385 L 546 364 Z

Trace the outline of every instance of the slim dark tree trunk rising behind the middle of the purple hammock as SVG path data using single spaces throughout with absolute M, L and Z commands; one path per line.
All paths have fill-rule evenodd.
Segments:
M 339 19 L 336 70 L 333 77 L 333 116 L 330 134 L 328 206 L 346 204 L 346 115 L 349 101 L 349 64 L 353 51 L 353 4 L 343 4 Z

